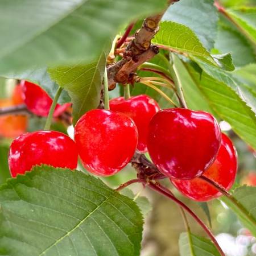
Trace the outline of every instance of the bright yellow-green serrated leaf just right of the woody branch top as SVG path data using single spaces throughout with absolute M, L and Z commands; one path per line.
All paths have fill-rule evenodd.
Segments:
M 203 60 L 213 61 L 210 53 L 204 48 L 195 33 L 183 24 L 162 22 L 159 32 L 152 41 L 155 44 L 187 53 L 189 56 L 197 56 Z

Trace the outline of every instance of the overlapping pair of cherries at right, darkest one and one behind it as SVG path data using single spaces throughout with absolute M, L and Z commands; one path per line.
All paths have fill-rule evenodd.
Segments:
M 225 189 L 234 184 L 236 150 L 209 113 L 188 109 L 158 112 L 150 122 L 148 152 L 159 171 L 193 200 L 221 196 L 201 175 Z

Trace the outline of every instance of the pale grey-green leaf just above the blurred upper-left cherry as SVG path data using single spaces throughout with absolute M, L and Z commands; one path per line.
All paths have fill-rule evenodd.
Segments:
M 51 77 L 49 77 L 49 74 L 47 73 L 47 68 L 34 67 L 23 72 L 8 72 L 2 73 L 1 75 L 10 79 L 27 80 L 30 82 L 34 82 L 35 84 L 40 85 L 44 90 L 46 90 L 46 92 L 52 99 L 54 98 L 57 89 L 59 88 L 59 85 L 57 85 L 56 82 L 53 82 L 51 80 Z M 70 101 L 71 98 L 68 96 L 68 93 L 64 90 L 60 94 L 58 102 L 62 104 Z

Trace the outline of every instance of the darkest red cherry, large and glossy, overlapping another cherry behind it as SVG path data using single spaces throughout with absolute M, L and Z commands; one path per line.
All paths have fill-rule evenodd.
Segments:
M 193 179 L 214 162 L 221 143 L 220 126 L 203 111 L 164 109 L 150 121 L 148 152 L 164 175 Z

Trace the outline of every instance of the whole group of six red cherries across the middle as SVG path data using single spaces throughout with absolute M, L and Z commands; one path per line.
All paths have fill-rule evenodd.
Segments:
M 28 109 L 46 116 L 52 103 L 48 94 L 26 81 L 22 86 Z M 39 91 L 43 103 L 34 97 Z M 57 105 L 56 115 L 67 106 Z M 212 114 L 183 108 L 160 110 L 146 95 L 114 98 L 110 110 L 85 113 L 76 123 L 75 142 L 57 131 L 20 135 L 11 144 L 9 167 L 13 177 L 39 164 L 75 169 L 80 156 L 86 170 L 109 176 L 121 171 L 135 150 L 148 151 L 159 172 L 193 200 L 221 196 L 200 176 L 225 189 L 232 187 L 236 177 L 236 150 Z

